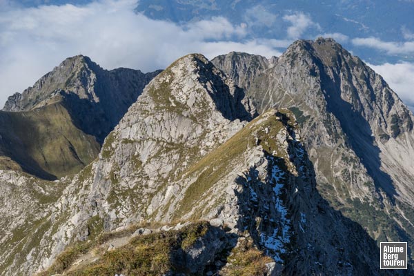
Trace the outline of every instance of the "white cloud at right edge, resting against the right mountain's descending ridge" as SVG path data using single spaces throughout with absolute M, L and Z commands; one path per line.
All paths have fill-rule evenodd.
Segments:
M 408 106 L 414 106 L 414 63 L 368 64 Z

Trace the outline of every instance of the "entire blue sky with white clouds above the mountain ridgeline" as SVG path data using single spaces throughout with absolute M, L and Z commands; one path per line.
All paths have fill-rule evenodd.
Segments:
M 271 57 L 295 39 L 333 37 L 414 106 L 411 0 L 0 0 L 0 105 L 63 59 L 166 68 L 190 52 Z

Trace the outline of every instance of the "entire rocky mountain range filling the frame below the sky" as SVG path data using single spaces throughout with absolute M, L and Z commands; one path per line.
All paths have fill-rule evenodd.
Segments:
M 146 75 L 74 57 L 3 110 L 0 275 L 414 273 L 413 114 L 333 39 Z

